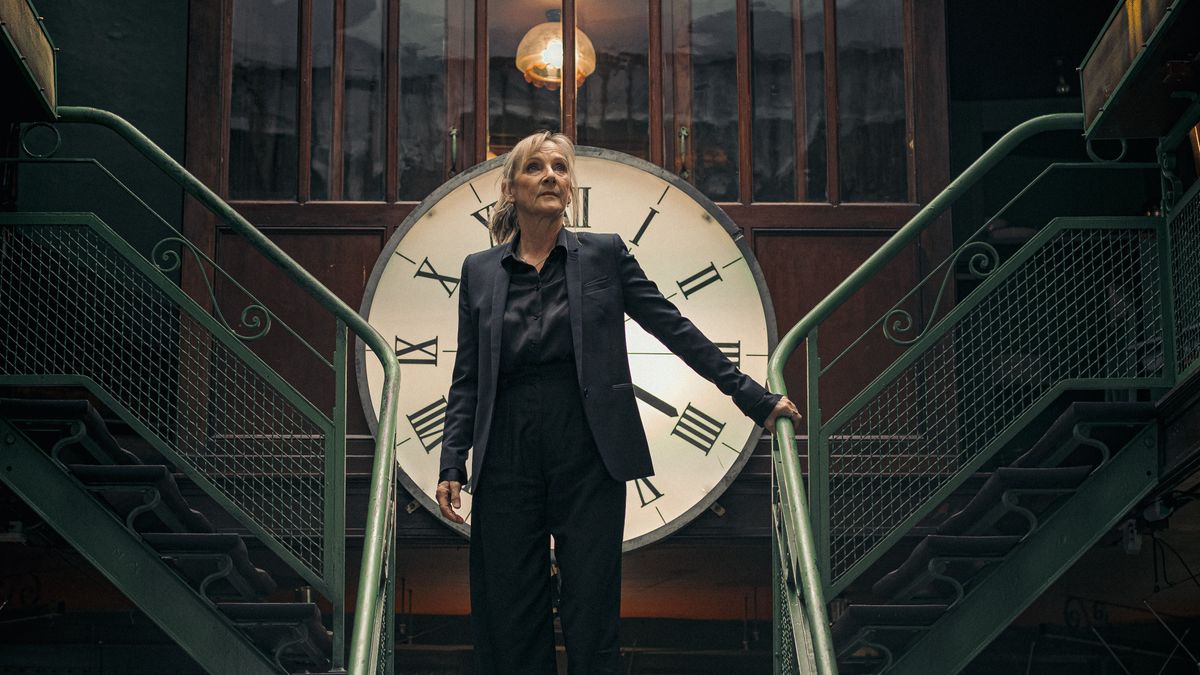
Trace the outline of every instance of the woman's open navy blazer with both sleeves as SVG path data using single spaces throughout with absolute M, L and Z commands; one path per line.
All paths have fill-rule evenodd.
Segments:
M 692 370 L 733 398 L 760 426 L 780 396 L 739 371 L 708 338 L 679 313 L 646 277 L 618 234 L 564 231 L 566 297 L 580 394 L 592 435 L 608 473 L 632 480 L 654 473 L 637 413 L 625 347 L 628 313 Z M 458 353 L 446 406 L 443 473 L 468 476 L 473 489 L 487 454 L 500 366 L 500 334 L 509 273 L 500 258 L 509 244 L 472 253 L 458 286 Z M 472 471 L 467 454 L 474 447 Z

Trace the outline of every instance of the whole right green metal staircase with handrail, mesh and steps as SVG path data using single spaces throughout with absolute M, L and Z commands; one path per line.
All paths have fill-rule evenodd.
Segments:
M 818 352 L 821 323 L 1004 155 L 1081 129 L 1014 129 L 773 354 L 774 390 L 800 346 L 808 372 L 808 465 L 790 422 L 773 447 L 776 671 L 956 673 L 1158 484 L 1153 399 L 1200 366 L 1200 185 L 1164 190 L 1162 216 L 1051 219 L 1014 250 L 985 225 L 846 351 Z M 826 414 L 822 383 L 881 338 L 901 356 Z

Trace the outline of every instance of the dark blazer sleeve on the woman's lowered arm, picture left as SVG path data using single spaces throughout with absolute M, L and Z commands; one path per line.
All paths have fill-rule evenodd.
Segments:
M 439 480 L 467 482 L 467 452 L 475 432 L 475 404 L 479 399 L 479 331 L 470 313 L 468 267 L 470 256 L 462 262 L 458 283 L 458 352 L 454 359 L 450 396 L 446 401 L 446 422 L 442 434 Z

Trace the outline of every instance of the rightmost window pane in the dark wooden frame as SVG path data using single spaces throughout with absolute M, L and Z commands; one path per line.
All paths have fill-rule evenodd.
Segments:
M 908 201 L 902 0 L 838 0 L 844 202 Z

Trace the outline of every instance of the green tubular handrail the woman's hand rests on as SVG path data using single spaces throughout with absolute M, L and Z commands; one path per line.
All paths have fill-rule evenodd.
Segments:
M 1018 145 L 1026 139 L 1045 133 L 1048 131 L 1082 131 L 1084 115 L 1081 113 L 1058 113 L 1042 115 L 1021 123 L 1012 131 L 1001 137 L 966 171 L 959 174 L 949 185 L 929 202 L 916 216 L 904 227 L 892 235 L 871 257 L 866 258 L 850 276 L 847 276 L 832 293 L 826 295 L 812 310 L 792 327 L 791 330 L 779 341 L 770 360 L 767 365 L 767 381 L 772 392 L 787 394 L 787 384 L 784 382 L 784 365 L 791 359 L 797 347 L 810 336 L 815 335 L 817 327 L 829 317 L 838 307 L 846 303 L 858 289 L 875 276 L 888 262 L 896 257 L 906 246 L 912 244 L 937 217 L 940 217 L 950 205 L 956 202 L 966 191 L 978 183 L 1001 160 L 1008 156 Z M 812 346 L 810 346 L 811 348 Z M 810 354 L 810 362 L 816 363 L 815 354 Z M 818 372 L 810 369 L 809 390 L 815 389 Z M 810 408 L 814 406 L 810 405 Z M 810 413 L 811 416 L 811 413 Z M 781 500 L 784 519 L 792 527 L 792 532 L 798 538 L 796 542 L 800 555 L 799 581 L 804 592 L 804 602 L 812 613 L 812 643 L 817 655 L 817 668 L 820 673 L 836 673 L 836 659 L 833 652 L 833 639 L 829 633 L 829 622 L 826 615 L 826 601 L 823 580 L 817 566 L 816 544 L 812 537 L 812 525 L 809 519 L 808 498 L 804 491 L 804 480 L 800 471 L 799 453 L 796 449 L 796 437 L 793 436 L 792 420 L 780 418 L 775 424 L 775 437 L 781 453 L 782 476 L 780 484 L 785 496 Z M 809 456 L 820 452 L 818 438 L 814 437 L 810 428 Z M 810 477 L 818 479 L 817 477 Z

